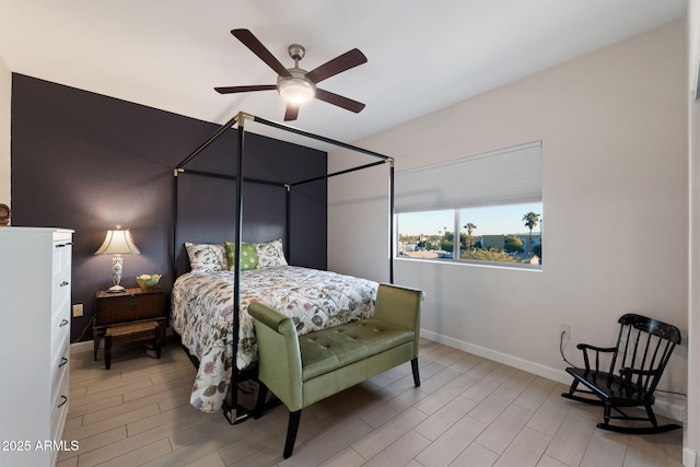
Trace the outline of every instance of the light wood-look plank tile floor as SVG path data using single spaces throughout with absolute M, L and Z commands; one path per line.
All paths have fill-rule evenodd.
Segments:
M 678 466 L 681 430 L 626 435 L 595 428 L 602 409 L 560 397 L 564 385 L 421 341 L 422 384 L 407 363 L 302 413 L 282 458 L 288 411 L 230 425 L 189 405 L 195 369 L 171 341 L 160 360 L 114 349 L 112 369 L 72 355 L 59 466 Z

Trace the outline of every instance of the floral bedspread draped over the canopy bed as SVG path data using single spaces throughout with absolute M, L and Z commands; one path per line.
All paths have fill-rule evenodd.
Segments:
M 221 408 L 231 382 L 233 279 L 233 271 L 187 272 L 173 287 L 171 324 L 200 362 L 190 404 L 205 412 Z M 257 358 L 249 303 L 262 302 L 291 316 L 301 335 L 371 317 L 377 287 L 294 266 L 242 271 L 236 366 L 243 370 Z

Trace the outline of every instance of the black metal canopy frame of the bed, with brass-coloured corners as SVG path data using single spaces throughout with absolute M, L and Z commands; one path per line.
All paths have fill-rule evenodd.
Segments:
M 243 236 L 243 183 L 237 183 L 238 176 L 243 175 L 243 161 L 244 161 L 244 155 L 245 155 L 245 130 L 246 130 L 246 121 L 255 121 L 257 124 L 261 124 L 271 128 L 276 128 L 282 131 L 287 131 L 287 132 L 291 132 L 291 133 L 295 133 L 295 135 L 300 135 L 306 138 L 310 138 L 312 140 L 316 140 L 316 141 L 320 141 L 323 143 L 327 143 L 330 144 L 331 147 L 337 147 L 337 148 L 342 148 L 342 149 L 347 149 L 353 152 L 358 152 L 358 153 L 362 153 L 362 154 L 366 154 L 373 159 L 376 159 L 376 161 L 370 162 L 370 163 L 365 163 L 362 165 L 357 165 L 357 166 L 352 166 L 350 168 L 347 170 L 342 170 L 342 171 L 338 171 L 335 173 L 330 173 L 330 174 L 326 174 L 323 176 L 314 176 L 312 178 L 306 178 L 306 179 L 300 179 L 300 180 L 290 180 L 287 183 L 280 183 L 280 182 L 270 182 L 270 180 L 264 180 L 264 179 L 257 179 L 257 178 L 249 178 L 249 177 L 245 177 L 242 176 L 241 179 L 243 179 L 243 182 L 246 183 L 255 183 L 255 184 L 265 184 L 265 185 L 272 185 L 272 186 L 279 186 L 279 187 L 283 187 L 285 189 L 287 192 L 287 206 L 285 206 L 285 219 L 284 219 L 284 231 L 285 231 L 285 238 L 284 238 L 284 246 L 285 248 L 288 248 L 288 255 L 289 252 L 291 249 L 291 243 L 290 243 L 290 236 L 291 236 L 291 230 L 290 230 L 290 212 L 292 209 L 292 190 L 294 189 L 294 187 L 304 185 L 304 184 L 308 184 L 312 182 L 319 182 L 323 179 L 328 179 L 330 177 L 335 177 L 338 175 L 343 175 L 343 174 L 348 174 L 348 173 L 352 173 L 352 172 L 357 172 L 357 171 L 361 171 L 364 168 L 370 168 L 370 167 L 374 167 L 377 165 L 382 165 L 382 164 L 389 164 L 389 192 L 388 192 L 388 205 L 389 205 L 389 282 L 393 283 L 394 282 L 394 159 L 389 157 L 387 155 L 383 155 L 380 154 L 377 152 L 374 151 L 369 151 L 352 144 L 348 144 L 348 143 L 343 143 L 337 140 L 332 140 L 330 138 L 326 138 L 323 136 L 318 136 L 318 135 L 314 135 L 307 131 L 303 131 L 300 130 L 298 128 L 294 127 L 290 127 L 288 125 L 282 125 L 276 121 L 271 121 L 271 120 L 267 120 L 265 118 L 260 118 L 250 114 L 246 114 L 243 112 L 240 112 L 238 114 L 236 114 L 233 118 L 231 118 L 226 124 L 222 125 L 207 141 L 205 141 L 200 147 L 198 147 L 195 151 L 192 151 L 185 160 L 183 160 L 179 164 L 177 164 L 177 166 L 175 167 L 175 170 L 173 171 L 173 177 L 174 177 L 174 182 L 173 182 L 173 257 L 172 257 L 172 264 L 173 264 L 173 281 L 175 281 L 175 279 L 177 279 L 178 272 L 177 272 L 177 268 L 178 268 L 178 248 L 180 245 L 178 245 L 178 180 L 180 178 L 182 175 L 184 174 L 194 174 L 194 175 L 199 175 L 199 176 L 205 176 L 205 177 L 214 177 L 214 178 L 225 178 L 225 179 L 230 179 L 230 180 L 236 180 L 236 194 L 235 194 L 235 232 L 234 232 L 234 242 L 236 245 L 241 245 L 241 242 L 243 241 L 242 236 Z M 202 154 L 202 152 L 205 151 L 205 149 L 207 149 L 211 143 L 213 143 L 214 141 L 217 141 L 218 138 L 220 138 L 222 135 L 225 135 L 228 132 L 228 130 L 230 129 L 235 129 L 237 127 L 237 141 L 236 141 L 236 153 L 235 153 L 235 175 L 226 175 L 226 174 L 221 174 L 221 173 L 214 173 L 214 172 L 207 172 L 207 171 L 197 171 L 197 170 L 190 170 L 187 168 L 187 165 L 195 160 L 197 156 L 199 156 L 200 154 Z M 182 244 L 182 242 L 179 242 Z M 237 348 L 238 348 L 238 339 L 240 339 L 240 313 L 241 313 L 241 288 L 240 288 L 240 278 L 241 278 L 241 270 L 242 270 L 242 248 L 235 248 L 235 253 L 234 253 L 235 257 L 234 257 L 234 287 L 233 287 L 233 306 L 234 306 L 234 312 L 233 312 L 233 320 L 232 320 L 232 332 L 231 335 L 233 336 L 233 352 L 234 355 L 232 355 L 232 360 L 233 360 L 233 365 L 232 365 L 232 374 L 231 374 L 231 383 L 229 385 L 226 395 L 225 395 L 225 399 L 223 401 L 222 405 L 222 410 L 223 413 L 225 416 L 225 418 L 229 420 L 229 423 L 231 424 L 235 424 L 235 423 L 240 423 L 245 421 L 252 410 L 248 410 L 244 407 L 241 406 L 241 404 L 238 404 L 238 392 L 237 392 L 237 387 L 238 385 L 247 380 L 256 380 L 257 378 L 257 366 L 255 363 L 250 364 L 249 366 L 247 366 L 244 370 L 238 370 L 237 365 L 236 365 L 236 358 L 235 354 L 237 352 Z M 190 358 L 190 360 L 192 361 L 192 363 L 198 366 L 199 362 L 198 359 L 192 355 L 188 349 L 183 346 L 183 348 L 185 349 L 185 351 L 187 352 L 188 357 Z M 252 408 L 250 408 L 252 409 Z

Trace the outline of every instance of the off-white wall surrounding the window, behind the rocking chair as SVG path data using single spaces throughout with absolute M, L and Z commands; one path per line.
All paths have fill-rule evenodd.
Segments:
M 626 312 L 686 337 L 685 37 L 679 21 L 357 142 L 397 170 L 544 143 L 541 272 L 397 260 L 395 282 L 427 293 L 424 337 L 567 383 L 559 324 L 574 362 Z M 330 269 L 388 278 L 386 186 L 385 168 L 330 180 Z M 686 392 L 687 350 L 662 388 Z

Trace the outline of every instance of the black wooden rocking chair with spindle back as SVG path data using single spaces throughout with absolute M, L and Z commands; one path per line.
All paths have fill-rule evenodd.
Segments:
M 668 359 L 680 343 L 680 331 L 677 327 L 640 315 L 623 315 L 618 323 L 620 331 L 617 346 L 600 348 L 579 343 L 583 351 L 584 369 L 568 367 L 567 373 L 573 376 L 569 393 L 561 396 L 568 399 L 603 406 L 603 423 L 597 427 L 620 433 L 651 434 L 663 433 L 681 428 L 670 423 L 660 425 L 652 410 L 654 389 L 668 363 Z M 590 353 L 595 358 L 595 366 L 591 366 Z M 611 359 L 609 369 L 602 367 L 600 359 L 608 354 Z M 616 370 L 619 369 L 619 370 Z M 588 390 L 578 389 L 579 383 Z M 575 393 L 584 393 L 595 398 L 582 397 Z M 644 407 L 646 417 L 631 417 L 623 408 Z M 610 415 L 614 410 L 617 415 Z M 628 421 L 648 421 L 651 427 L 628 427 L 610 424 L 610 419 Z

